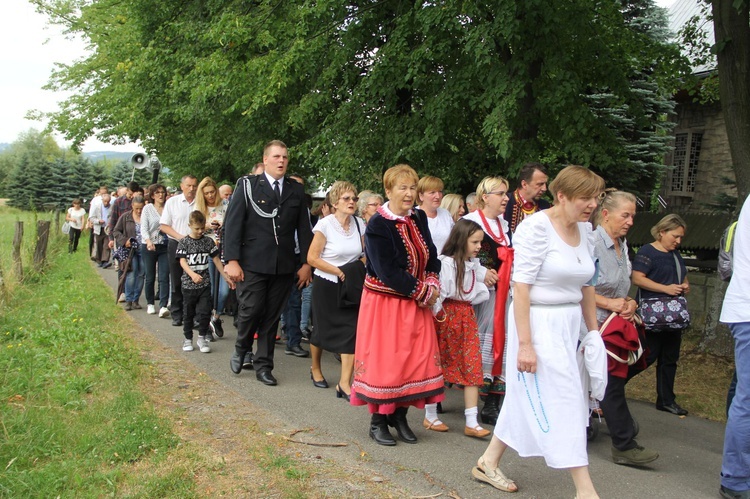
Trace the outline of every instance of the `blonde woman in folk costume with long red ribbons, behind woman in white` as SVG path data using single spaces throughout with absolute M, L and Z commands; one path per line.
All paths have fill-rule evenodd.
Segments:
M 486 393 L 482 422 L 494 425 L 505 395 L 505 318 L 513 267 L 508 224 L 503 218 L 508 204 L 508 181 L 502 177 L 485 177 L 477 186 L 477 210 L 464 218 L 478 223 L 484 230 L 479 261 L 488 269 L 484 284 L 490 298 L 475 306 L 479 340 L 482 348 L 482 369 Z

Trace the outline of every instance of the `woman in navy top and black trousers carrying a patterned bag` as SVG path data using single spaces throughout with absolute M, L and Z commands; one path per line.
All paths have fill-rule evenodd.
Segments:
M 690 292 L 687 267 L 677 247 L 685 237 L 687 225 L 679 215 L 667 215 L 651 228 L 654 242 L 638 250 L 633 260 L 633 284 L 638 286 L 638 301 L 659 298 L 670 300 Z M 656 408 L 676 416 L 688 411 L 676 402 L 674 380 L 680 358 L 682 329 L 653 326 L 648 319 L 646 344 L 650 350 L 646 363 L 656 362 Z

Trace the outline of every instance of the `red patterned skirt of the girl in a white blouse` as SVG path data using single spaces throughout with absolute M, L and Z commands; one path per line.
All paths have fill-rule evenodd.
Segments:
M 443 311 L 445 321 L 435 320 L 435 329 L 445 381 L 481 386 L 482 352 L 474 307 L 466 301 L 445 300 Z

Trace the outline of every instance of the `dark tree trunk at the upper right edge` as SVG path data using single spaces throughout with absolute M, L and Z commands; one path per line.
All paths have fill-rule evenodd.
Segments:
M 713 0 L 719 97 L 737 179 L 737 212 L 750 193 L 750 0 Z

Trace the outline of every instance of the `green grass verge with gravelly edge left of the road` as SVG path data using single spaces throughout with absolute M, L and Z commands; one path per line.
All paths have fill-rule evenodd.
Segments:
M 86 243 L 51 240 L 48 267 L 0 309 L 0 497 L 405 495 L 364 452 L 300 445 L 312 428 L 293 442 L 135 326 Z

